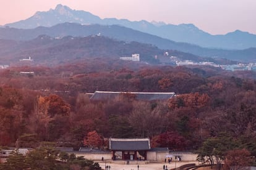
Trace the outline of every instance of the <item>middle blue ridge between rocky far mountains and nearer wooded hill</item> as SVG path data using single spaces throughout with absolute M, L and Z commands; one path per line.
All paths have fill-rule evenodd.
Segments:
M 62 23 L 51 27 L 39 26 L 34 29 L 0 28 L 0 39 L 30 40 L 41 34 L 53 38 L 64 36 L 90 36 L 101 34 L 109 38 L 131 42 L 151 44 L 160 49 L 182 51 L 201 57 L 214 57 L 215 59 L 237 60 L 239 62 L 256 62 L 256 49 L 245 50 L 222 50 L 208 49 L 184 42 L 175 42 L 169 39 L 160 38 L 141 31 L 132 30 L 119 25 L 81 25 L 78 23 Z

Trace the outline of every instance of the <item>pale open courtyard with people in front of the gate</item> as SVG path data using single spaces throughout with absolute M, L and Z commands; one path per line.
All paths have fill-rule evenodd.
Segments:
M 187 162 L 187 161 L 181 161 L 176 162 L 176 168 L 179 166 L 182 166 L 183 164 L 189 164 L 189 163 L 195 163 L 198 164 L 197 161 L 194 162 Z M 105 169 L 105 162 L 99 163 L 102 169 Z M 167 165 L 168 169 L 175 168 L 175 162 L 172 162 L 170 164 L 168 163 L 148 163 L 148 164 L 139 164 L 139 170 L 163 170 L 163 165 Z M 121 164 L 120 162 L 117 163 L 106 163 L 106 166 L 110 166 L 109 170 L 137 170 L 138 165 L 137 164 Z

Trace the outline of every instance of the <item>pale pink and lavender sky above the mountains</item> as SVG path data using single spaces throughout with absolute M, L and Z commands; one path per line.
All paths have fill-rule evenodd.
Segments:
M 58 4 L 100 18 L 126 18 L 178 25 L 193 23 L 211 34 L 256 34 L 256 0 L 0 0 L 0 25 L 25 20 Z

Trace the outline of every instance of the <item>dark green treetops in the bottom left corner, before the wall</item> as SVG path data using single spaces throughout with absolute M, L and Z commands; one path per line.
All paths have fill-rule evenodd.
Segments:
M 14 150 L 4 163 L 0 163 L 0 169 L 101 169 L 98 163 L 86 160 L 83 156 L 76 157 L 74 153 L 69 155 L 60 152 L 50 145 L 41 145 L 41 147 L 31 150 L 26 155 Z

